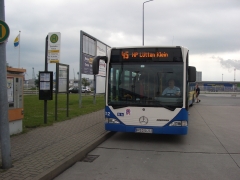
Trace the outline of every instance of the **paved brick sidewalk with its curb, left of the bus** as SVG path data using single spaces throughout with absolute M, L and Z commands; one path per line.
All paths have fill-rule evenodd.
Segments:
M 101 110 L 11 137 L 13 167 L 0 179 L 53 179 L 112 134 L 104 121 Z

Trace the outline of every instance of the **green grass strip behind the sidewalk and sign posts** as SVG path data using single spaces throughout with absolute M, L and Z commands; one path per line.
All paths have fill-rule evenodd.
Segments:
M 79 107 L 79 95 L 69 94 L 69 114 L 67 117 L 67 95 L 58 94 L 57 121 L 72 119 L 77 116 L 101 110 L 105 106 L 103 95 L 96 96 L 96 104 L 93 104 L 93 96 L 82 96 L 82 107 Z M 55 95 L 53 100 L 47 103 L 47 124 L 44 123 L 44 101 L 38 99 L 38 95 L 24 95 L 23 129 L 52 125 L 55 121 Z

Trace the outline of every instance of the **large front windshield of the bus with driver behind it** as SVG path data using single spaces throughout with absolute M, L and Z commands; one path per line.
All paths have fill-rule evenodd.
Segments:
M 183 62 L 110 62 L 108 105 L 183 107 Z

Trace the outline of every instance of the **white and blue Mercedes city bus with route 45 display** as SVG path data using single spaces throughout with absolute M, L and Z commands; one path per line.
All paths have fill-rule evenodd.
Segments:
M 196 68 L 189 66 L 189 50 L 182 46 L 115 47 L 106 62 L 105 129 L 115 132 L 179 134 L 188 132 L 188 108 L 193 103 L 189 83 Z M 177 92 L 165 93 L 174 84 Z M 164 91 L 165 90 L 165 91 Z M 189 95 L 191 94 L 191 95 Z

